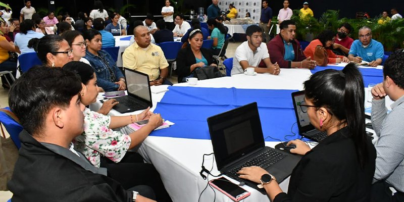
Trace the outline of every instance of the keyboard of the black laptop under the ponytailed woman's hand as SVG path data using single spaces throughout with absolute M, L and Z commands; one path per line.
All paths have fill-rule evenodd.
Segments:
M 229 172 L 233 175 L 237 175 L 237 172 L 243 167 L 249 166 L 259 166 L 261 168 L 267 168 L 274 165 L 276 162 L 280 161 L 286 157 L 286 155 L 279 153 L 274 149 L 269 149 L 261 153 L 260 155 L 244 162 L 243 164 L 231 169 Z

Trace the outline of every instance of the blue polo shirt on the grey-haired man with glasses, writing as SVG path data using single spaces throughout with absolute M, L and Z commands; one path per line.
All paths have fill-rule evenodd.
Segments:
M 383 44 L 372 39 L 367 47 L 363 47 L 360 40 L 355 40 L 350 46 L 349 55 L 359 56 L 366 62 L 372 62 L 379 58 L 383 59 Z

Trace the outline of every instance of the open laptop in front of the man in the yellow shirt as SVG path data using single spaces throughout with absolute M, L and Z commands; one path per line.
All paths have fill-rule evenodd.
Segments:
M 120 113 L 128 113 L 153 107 L 148 75 L 128 68 L 124 68 L 124 73 L 128 95 L 114 97 L 119 104 L 113 109 Z

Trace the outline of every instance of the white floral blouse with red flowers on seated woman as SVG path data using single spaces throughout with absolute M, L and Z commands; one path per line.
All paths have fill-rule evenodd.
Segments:
M 73 141 L 74 148 L 99 168 L 100 157 L 120 162 L 129 149 L 130 137 L 109 128 L 111 117 L 93 112 L 86 108 L 84 114 L 84 132 Z

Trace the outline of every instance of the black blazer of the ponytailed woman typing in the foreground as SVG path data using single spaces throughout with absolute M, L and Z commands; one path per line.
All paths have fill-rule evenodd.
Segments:
M 338 130 L 309 151 L 293 169 L 288 193 L 279 201 L 369 201 L 375 173 L 376 149 L 370 139 L 368 161 L 362 170 L 347 127 Z

